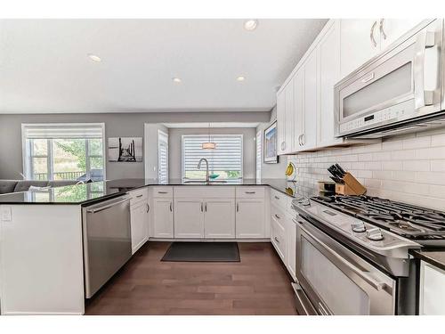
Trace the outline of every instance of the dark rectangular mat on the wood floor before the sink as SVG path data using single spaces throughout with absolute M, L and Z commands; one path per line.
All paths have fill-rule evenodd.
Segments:
M 237 242 L 173 242 L 161 261 L 239 262 Z

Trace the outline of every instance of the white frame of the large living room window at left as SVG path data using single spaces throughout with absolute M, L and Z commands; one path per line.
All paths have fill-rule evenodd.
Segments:
M 105 136 L 105 123 L 22 123 L 21 124 L 21 157 L 22 157 L 22 176 L 26 180 L 32 180 L 33 175 L 33 158 L 46 158 L 47 169 L 46 173 L 48 176 L 53 175 L 53 139 L 46 139 L 47 141 L 47 151 L 46 156 L 34 156 L 32 155 L 32 144 L 29 142 L 29 147 L 27 148 L 27 137 L 26 128 L 27 127 L 57 127 L 57 126 L 97 126 L 101 127 L 101 140 L 102 140 L 102 156 L 90 155 L 89 149 L 90 144 L 88 142 L 89 138 L 85 138 L 85 164 L 86 164 L 86 176 L 89 177 L 90 174 L 90 159 L 91 158 L 103 158 L 103 181 L 107 179 L 107 156 L 106 156 L 106 136 Z M 29 151 L 29 156 L 28 156 Z M 29 158 L 29 159 L 28 159 Z M 46 181 L 46 180 L 45 180 Z M 53 181 L 48 177 L 47 181 Z

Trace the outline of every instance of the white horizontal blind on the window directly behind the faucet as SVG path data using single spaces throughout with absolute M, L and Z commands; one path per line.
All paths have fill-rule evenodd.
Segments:
M 242 177 L 242 134 L 212 134 L 210 141 L 216 144 L 216 148 L 203 150 L 202 143 L 208 142 L 207 134 L 182 135 L 182 177 L 202 178 L 206 164 L 203 164 L 202 169 L 198 169 L 201 158 L 207 159 L 210 173 L 220 175 L 220 179 Z

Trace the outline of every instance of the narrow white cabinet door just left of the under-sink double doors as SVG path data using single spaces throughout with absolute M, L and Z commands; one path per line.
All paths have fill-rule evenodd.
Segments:
M 173 200 L 153 199 L 152 233 L 154 238 L 173 238 Z

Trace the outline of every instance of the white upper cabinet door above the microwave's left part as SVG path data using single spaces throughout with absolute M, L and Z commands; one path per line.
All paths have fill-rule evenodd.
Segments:
M 380 51 L 379 19 L 341 20 L 342 77 Z

